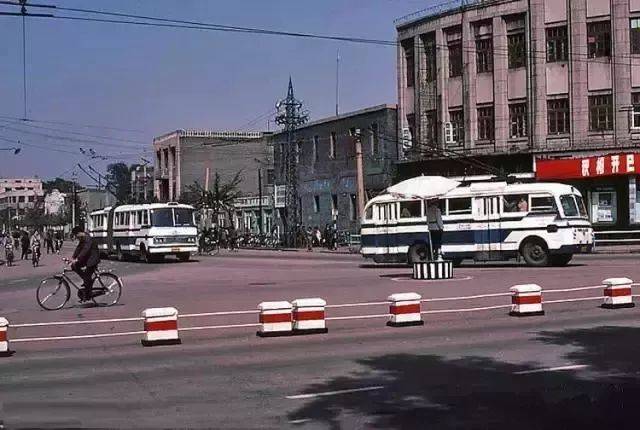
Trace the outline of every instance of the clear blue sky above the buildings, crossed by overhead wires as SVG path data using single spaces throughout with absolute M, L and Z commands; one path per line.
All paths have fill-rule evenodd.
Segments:
M 395 39 L 393 20 L 438 0 L 52 0 L 40 3 L 171 17 L 226 25 Z M 0 10 L 8 10 L 0 7 Z M 35 12 L 35 11 L 34 11 Z M 63 12 L 56 12 L 62 15 Z M 68 13 L 66 13 L 68 14 Z M 22 21 L 0 17 L 0 115 L 22 117 Z M 335 110 L 335 59 L 340 50 L 340 110 L 396 102 L 396 51 L 360 45 L 196 30 L 145 28 L 48 19 L 27 20 L 28 117 L 136 130 L 32 123 L 7 125 L 0 138 L 46 146 L 0 152 L 0 176 L 69 175 L 82 142 L 41 134 L 114 137 L 100 154 L 150 149 L 153 136 L 177 128 L 235 130 L 269 111 L 289 75 L 311 118 Z M 262 121 L 253 129 L 266 129 Z M 273 125 L 272 125 L 273 127 Z M 27 134 L 18 129 L 31 131 Z M 80 134 L 77 139 L 98 140 Z M 140 143 L 139 143 L 140 142 Z M 0 140 L 0 147 L 11 146 Z M 122 155 L 119 155 L 122 156 Z M 134 162 L 136 156 L 127 156 Z M 91 161 L 101 170 L 107 162 Z M 83 183 L 90 182 L 80 176 Z

